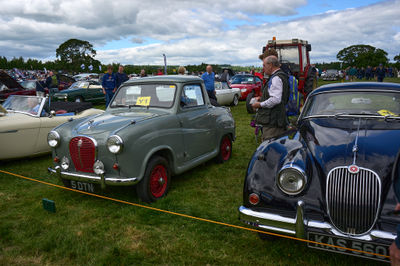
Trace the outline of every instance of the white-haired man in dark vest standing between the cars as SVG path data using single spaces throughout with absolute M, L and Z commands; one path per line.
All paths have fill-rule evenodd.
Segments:
M 274 55 L 263 59 L 264 73 L 269 76 L 263 94 L 252 104 L 257 109 L 256 123 L 262 125 L 263 141 L 277 137 L 286 131 L 288 120 L 285 105 L 289 99 L 289 80 L 280 69 L 278 58 Z

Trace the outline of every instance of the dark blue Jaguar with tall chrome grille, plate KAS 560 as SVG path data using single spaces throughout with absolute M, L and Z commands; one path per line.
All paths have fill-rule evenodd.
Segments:
M 400 84 L 314 90 L 296 129 L 254 153 L 240 220 L 311 240 L 310 247 L 386 260 L 400 224 L 399 114 Z

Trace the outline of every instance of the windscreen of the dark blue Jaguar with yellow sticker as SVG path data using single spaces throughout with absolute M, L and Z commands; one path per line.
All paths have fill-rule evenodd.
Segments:
M 400 92 L 342 91 L 312 96 L 303 117 L 314 115 L 400 115 Z

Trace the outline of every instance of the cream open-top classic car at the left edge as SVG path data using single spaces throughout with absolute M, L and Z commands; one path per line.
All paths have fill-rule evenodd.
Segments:
M 0 105 L 0 160 L 48 153 L 51 129 L 103 112 L 91 108 L 90 103 L 50 104 L 45 97 L 12 95 Z

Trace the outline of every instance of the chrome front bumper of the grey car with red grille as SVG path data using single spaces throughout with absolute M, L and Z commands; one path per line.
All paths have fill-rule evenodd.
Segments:
M 135 185 L 138 182 L 136 177 L 133 178 L 110 178 L 105 177 L 103 175 L 95 175 L 95 174 L 78 174 L 78 173 L 70 173 L 70 172 L 63 172 L 61 171 L 60 166 L 56 166 L 53 168 L 49 167 L 47 169 L 52 174 L 57 174 L 59 178 L 74 180 L 74 181 L 81 181 L 87 183 L 94 183 L 100 184 L 101 188 L 104 189 L 106 185 L 112 186 L 131 186 Z

